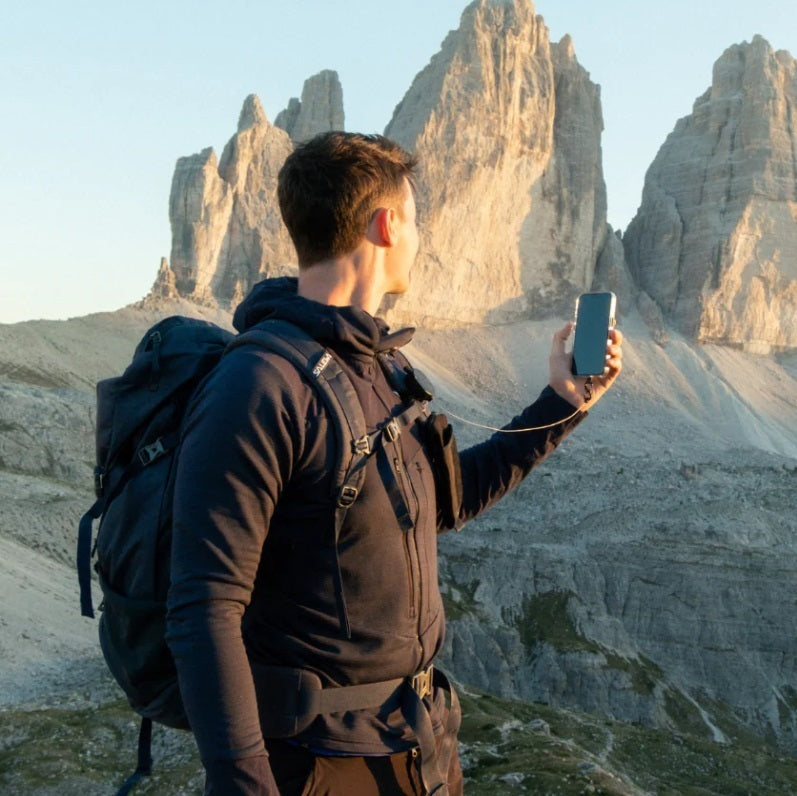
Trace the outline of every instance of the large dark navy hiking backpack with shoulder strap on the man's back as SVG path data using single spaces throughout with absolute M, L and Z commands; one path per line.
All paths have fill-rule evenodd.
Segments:
M 385 429 L 368 435 L 354 387 L 340 365 L 306 332 L 282 320 L 264 321 L 236 337 L 205 321 L 166 318 L 144 335 L 121 376 L 97 384 L 97 500 L 80 521 L 77 570 L 81 613 L 93 617 L 91 560 L 96 555 L 103 594 L 100 646 L 131 707 L 142 717 L 138 767 L 120 795 L 151 771 L 152 721 L 189 729 L 165 641 L 180 428 L 199 386 L 224 355 L 244 345 L 261 346 L 293 363 L 329 411 L 338 454 L 333 479 L 336 542 L 362 488 L 365 461 L 377 437 L 385 429 L 388 434 L 395 430 L 394 418 Z M 411 376 L 405 362 L 400 360 L 399 370 Z M 422 414 L 418 401 L 410 399 L 407 405 L 404 422 Z M 345 626 L 340 580 L 339 586 Z

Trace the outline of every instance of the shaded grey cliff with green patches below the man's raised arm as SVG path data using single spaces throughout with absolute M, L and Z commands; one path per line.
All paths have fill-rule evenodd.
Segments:
M 794 460 L 632 464 L 567 445 L 536 500 L 524 487 L 514 509 L 443 543 L 448 665 L 503 694 L 724 743 L 747 726 L 797 750 L 797 617 L 783 608 L 797 567 Z M 611 471 L 595 482 L 577 473 L 590 454 Z M 613 497 L 598 505 L 601 479 Z M 734 494 L 746 482 L 747 501 Z M 568 510 L 551 511 L 562 492 Z M 656 503 L 668 507 L 658 519 Z

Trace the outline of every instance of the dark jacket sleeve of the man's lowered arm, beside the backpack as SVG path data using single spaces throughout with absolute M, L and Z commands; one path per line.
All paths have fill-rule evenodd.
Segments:
M 214 796 L 278 794 L 241 633 L 304 428 L 270 356 L 244 349 L 214 371 L 189 408 L 175 476 L 167 641 Z

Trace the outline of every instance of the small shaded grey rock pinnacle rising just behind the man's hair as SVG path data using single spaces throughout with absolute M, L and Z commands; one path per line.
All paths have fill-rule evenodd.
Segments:
M 343 88 L 338 73 L 325 69 L 308 78 L 302 98 L 291 97 L 288 107 L 277 114 L 276 127 L 292 141 L 307 141 L 327 130 L 343 129 Z

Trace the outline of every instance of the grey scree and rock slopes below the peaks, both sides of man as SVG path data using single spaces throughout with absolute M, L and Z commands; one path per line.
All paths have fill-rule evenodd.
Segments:
M 72 567 L 92 502 L 90 384 L 121 372 L 175 309 L 204 311 L 167 303 L 0 327 L 0 538 Z M 411 354 L 439 410 L 500 425 L 544 385 L 557 325 L 422 330 Z M 505 696 L 707 737 L 747 728 L 794 748 L 794 363 L 675 332 L 661 347 L 633 313 L 624 329 L 613 393 L 514 495 L 441 540 L 445 663 Z M 489 434 L 454 423 L 461 447 Z M 4 588 L 24 600 L 17 571 Z M 31 621 L 17 660 L 85 638 L 74 589 L 73 619 Z

